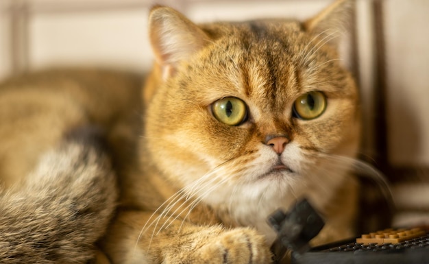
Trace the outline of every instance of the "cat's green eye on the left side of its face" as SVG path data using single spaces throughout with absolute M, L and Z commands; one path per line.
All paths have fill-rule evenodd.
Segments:
M 217 120 L 227 125 L 240 125 L 247 119 L 247 106 L 235 97 L 225 97 L 212 104 L 212 112 Z

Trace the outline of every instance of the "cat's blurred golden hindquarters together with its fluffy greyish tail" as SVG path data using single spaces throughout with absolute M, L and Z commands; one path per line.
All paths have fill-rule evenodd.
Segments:
M 121 160 L 134 156 L 139 89 L 139 77 L 106 71 L 48 71 L 0 85 L 0 263 L 95 259 L 117 205 Z

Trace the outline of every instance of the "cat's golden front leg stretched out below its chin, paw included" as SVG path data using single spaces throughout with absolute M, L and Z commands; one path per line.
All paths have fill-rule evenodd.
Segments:
M 161 219 L 143 229 L 148 217 L 136 211 L 120 213 L 105 246 L 113 263 L 271 263 L 265 238 L 251 228 Z

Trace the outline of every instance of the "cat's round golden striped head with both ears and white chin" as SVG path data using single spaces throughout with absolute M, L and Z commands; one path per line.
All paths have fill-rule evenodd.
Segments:
M 341 182 L 360 130 L 358 91 L 336 52 L 350 5 L 304 23 L 195 25 L 151 10 L 144 138 L 164 176 L 212 206 Z

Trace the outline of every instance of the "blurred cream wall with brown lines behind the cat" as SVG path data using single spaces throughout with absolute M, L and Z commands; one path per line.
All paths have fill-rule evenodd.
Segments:
M 53 67 L 147 72 L 147 15 L 156 3 L 191 20 L 304 19 L 331 0 L 0 0 L 0 80 Z M 364 184 L 361 221 L 378 228 L 429 225 L 429 1 L 357 0 L 342 56 L 363 108 L 360 158 L 392 183 L 391 218 Z M 384 223 L 384 224 L 383 224 Z

